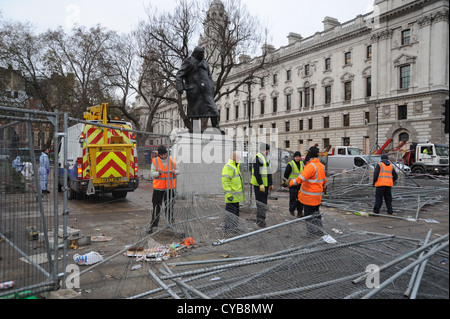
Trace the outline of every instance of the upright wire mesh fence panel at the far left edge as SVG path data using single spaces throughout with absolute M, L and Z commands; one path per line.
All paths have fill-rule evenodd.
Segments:
M 57 144 L 59 113 L 0 107 L 0 120 L 0 298 L 30 298 L 57 289 L 64 267 L 55 158 L 44 168 L 35 144 L 42 130 Z

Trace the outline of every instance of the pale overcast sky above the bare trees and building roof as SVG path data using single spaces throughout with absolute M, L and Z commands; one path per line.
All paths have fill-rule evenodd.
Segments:
M 248 11 L 269 28 L 269 43 L 276 48 L 288 44 L 290 32 L 303 37 L 323 31 L 326 16 L 339 22 L 373 11 L 374 0 L 241 0 Z M 31 22 L 37 32 L 74 22 L 87 27 L 98 23 L 121 33 L 131 31 L 145 18 L 147 4 L 171 11 L 175 0 L 0 0 L 3 19 Z

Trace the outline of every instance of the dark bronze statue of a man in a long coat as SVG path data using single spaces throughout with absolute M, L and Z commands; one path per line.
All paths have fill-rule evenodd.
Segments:
M 196 47 L 192 55 L 183 61 L 177 73 L 176 88 L 180 96 L 183 90 L 186 90 L 187 116 L 192 125 L 194 120 L 210 118 L 212 127 L 220 130 L 219 111 L 214 102 L 214 82 L 208 62 L 204 58 L 205 50 Z

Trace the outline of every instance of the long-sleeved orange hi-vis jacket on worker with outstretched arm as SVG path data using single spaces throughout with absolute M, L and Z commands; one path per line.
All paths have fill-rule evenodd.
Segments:
M 327 185 L 325 167 L 318 158 L 313 158 L 306 164 L 303 172 L 296 179 L 291 179 L 290 186 L 301 184 L 298 200 L 308 206 L 320 205 L 323 189 Z

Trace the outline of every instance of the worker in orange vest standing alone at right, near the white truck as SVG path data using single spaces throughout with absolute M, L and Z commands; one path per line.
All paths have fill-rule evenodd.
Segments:
M 375 214 L 380 213 L 383 198 L 386 203 L 388 214 L 392 215 L 394 213 L 392 209 L 392 186 L 394 186 L 394 182 L 397 178 L 397 172 L 389 162 L 389 156 L 387 154 L 382 154 L 381 162 L 377 163 L 375 171 L 373 172 L 373 185 L 376 188 L 375 205 L 373 207 L 373 212 Z

